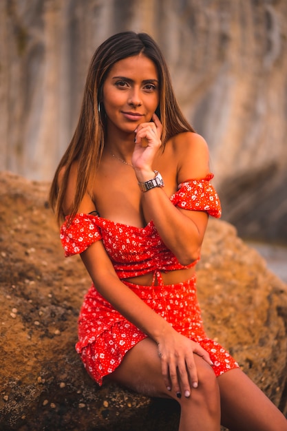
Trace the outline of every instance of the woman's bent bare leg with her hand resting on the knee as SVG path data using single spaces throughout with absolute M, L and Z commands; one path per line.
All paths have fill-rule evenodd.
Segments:
M 220 431 L 220 393 L 213 369 L 195 355 L 199 386 L 189 398 L 178 399 L 164 386 L 156 343 L 147 338 L 131 348 L 110 379 L 151 397 L 169 397 L 180 403 L 180 431 Z

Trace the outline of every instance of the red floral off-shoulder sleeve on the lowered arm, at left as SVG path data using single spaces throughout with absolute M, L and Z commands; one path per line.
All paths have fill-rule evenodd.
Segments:
M 82 253 L 88 246 L 102 239 L 96 220 L 97 217 L 94 215 L 79 213 L 69 224 L 69 216 L 66 217 L 60 230 L 66 257 Z

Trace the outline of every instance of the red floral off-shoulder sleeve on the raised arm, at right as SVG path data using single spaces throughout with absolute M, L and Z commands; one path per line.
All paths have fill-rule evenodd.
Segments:
M 171 202 L 182 209 L 206 211 L 209 215 L 220 218 L 220 198 L 210 183 L 212 178 L 213 174 L 209 174 L 205 178 L 182 182 L 171 197 Z

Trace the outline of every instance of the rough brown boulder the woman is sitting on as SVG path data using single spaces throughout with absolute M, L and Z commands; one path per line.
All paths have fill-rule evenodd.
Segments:
M 65 259 L 48 184 L 0 173 L 1 431 L 176 431 L 175 402 L 99 389 L 76 355 L 89 286 Z M 226 222 L 210 220 L 198 266 L 209 335 L 287 414 L 287 286 Z

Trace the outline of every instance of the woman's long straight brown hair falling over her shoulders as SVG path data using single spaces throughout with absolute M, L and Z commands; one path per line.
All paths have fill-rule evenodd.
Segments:
M 107 74 L 117 61 L 140 53 L 153 61 L 158 70 L 163 149 L 167 140 L 172 136 L 181 132 L 194 132 L 180 111 L 173 93 L 167 63 L 160 52 L 160 48 L 158 48 L 151 36 L 146 33 L 121 32 L 109 37 L 97 48 L 92 57 L 85 83 L 78 125 L 52 181 L 50 205 L 56 213 L 58 222 L 61 222 L 64 217 L 62 206 L 73 162 L 77 161 L 78 174 L 74 204 L 70 215 L 71 219 L 78 210 L 87 191 L 89 181 L 95 174 L 96 167 L 103 154 L 105 113 L 103 112 L 102 91 Z M 65 171 L 61 187 L 59 187 L 58 177 L 63 167 L 65 167 Z

